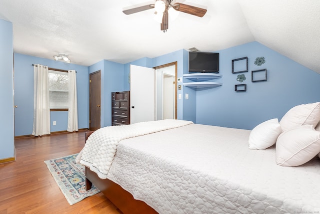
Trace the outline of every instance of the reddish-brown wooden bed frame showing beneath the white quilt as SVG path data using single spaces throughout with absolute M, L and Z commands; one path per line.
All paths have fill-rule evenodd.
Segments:
M 93 131 L 85 132 L 85 141 Z M 85 143 L 84 141 L 84 143 Z M 85 167 L 86 190 L 92 183 L 123 213 L 157 213 L 153 208 L 141 200 L 133 198 L 132 194 L 109 179 L 101 179 L 97 174 Z

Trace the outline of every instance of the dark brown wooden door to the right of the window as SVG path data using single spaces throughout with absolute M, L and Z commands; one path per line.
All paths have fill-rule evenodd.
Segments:
M 100 128 L 101 70 L 90 74 L 89 84 L 89 129 L 95 131 Z

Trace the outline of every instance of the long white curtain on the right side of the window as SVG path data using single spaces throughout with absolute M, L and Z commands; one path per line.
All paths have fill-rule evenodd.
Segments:
M 75 71 L 68 71 L 69 100 L 68 100 L 68 127 L 67 131 L 78 131 L 78 106 L 76 98 L 76 76 Z

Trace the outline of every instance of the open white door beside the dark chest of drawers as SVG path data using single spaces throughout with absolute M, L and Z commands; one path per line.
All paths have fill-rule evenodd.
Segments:
M 130 65 L 130 123 L 154 121 L 154 69 Z

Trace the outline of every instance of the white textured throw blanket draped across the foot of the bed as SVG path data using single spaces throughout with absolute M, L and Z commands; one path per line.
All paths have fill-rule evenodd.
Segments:
M 151 123 L 152 125 L 150 125 Z M 190 121 L 168 119 L 100 128 L 88 137 L 83 149 L 76 157 L 76 162 L 87 166 L 91 171 L 97 173 L 101 179 L 105 179 L 120 140 L 191 123 Z

